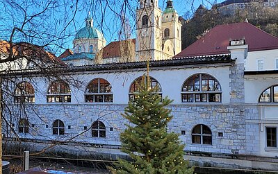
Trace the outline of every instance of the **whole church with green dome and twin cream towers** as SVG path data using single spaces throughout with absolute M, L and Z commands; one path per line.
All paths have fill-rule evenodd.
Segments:
M 167 1 L 163 12 L 157 3 L 141 1 L 136 21 L 136 39 L 111 42 L 106 46 L 104 35 L 93 27 L 89 14 L 86 26 L 74 38 L 74 54 L 62 60 L 71 65 L 167 60 L 181 52 L 181 22 L 172 1 Z

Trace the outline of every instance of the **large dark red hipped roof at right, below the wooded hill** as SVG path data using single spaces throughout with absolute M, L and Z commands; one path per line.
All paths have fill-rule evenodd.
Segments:
M 247 22 L 215 26 L 174 58 L 229 53 L 229 40 L 245 38 L 248 51 L 278 49 L 278 38 Z

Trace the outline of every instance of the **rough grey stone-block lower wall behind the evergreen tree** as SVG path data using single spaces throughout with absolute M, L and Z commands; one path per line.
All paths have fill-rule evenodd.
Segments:
M 28 139 L 78 141 L 104 145 L 120 145 L 119 135 L 129 124 L 122 117 L 126 105 L 107 104 L 47 104 L 35 105 L 29 110 L 31 124 L 29 134 L 19 134 Z M 246 119 L 257 119 L 256 105 L 170 105 L 173 119 L 168 125 L 169 131 L 181 134 L 186 143 L 185 150 L 208 153 L 256 155 L 259 150 L 259 124 L 246 124 Z M 65 123 L 65 135 L 52 134 L 52 123 L 60 119 Z M 102 121 L 106 125 L 106 138 L 92 137 L 90 126 L 94 121 Z M 17 119 L 13 119 L 15 130 Z M 212 145 L 194 144 L 191 132 L 195 125 L 204 124 L 211 129 Z M 70 125 L 70 129 L 69 129 Z M 87 130 L 84 129 L 87 128 Z M 223 137 L 218 133 L 222 132 Z

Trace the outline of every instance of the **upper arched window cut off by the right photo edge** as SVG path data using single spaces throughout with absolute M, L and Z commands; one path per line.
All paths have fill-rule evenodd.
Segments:
M 276 103 L 278 102 L 278 85 L 273 85 L 261 94 L 259 98 L 260 103 Z

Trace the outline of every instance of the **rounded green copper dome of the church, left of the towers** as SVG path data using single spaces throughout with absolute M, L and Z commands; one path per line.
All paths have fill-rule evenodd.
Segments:
M 85 39 L 104 39 L 104 35 L 97 30 L 97 28 L 93 28 L 92 26 L 85 26 L 81 28 L 75 35 L 75 40 L 85 38 Z

